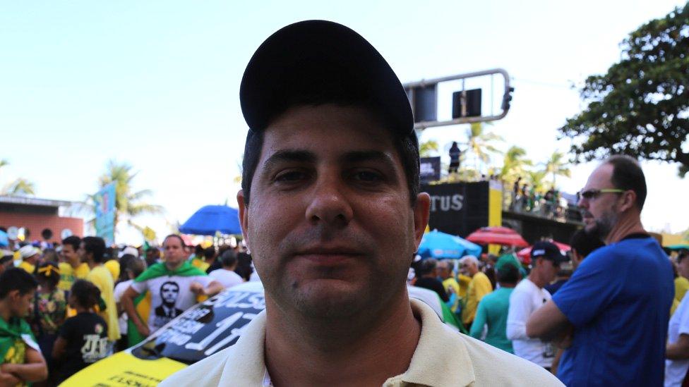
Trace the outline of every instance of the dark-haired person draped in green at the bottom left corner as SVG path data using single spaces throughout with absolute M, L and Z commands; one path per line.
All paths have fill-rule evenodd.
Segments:
M 0 275 L 1 386 L 25 386 L 48 376 L 40 348 L 23 319 L 29 312 L 37 285 L 22 269 L 8 269 Z

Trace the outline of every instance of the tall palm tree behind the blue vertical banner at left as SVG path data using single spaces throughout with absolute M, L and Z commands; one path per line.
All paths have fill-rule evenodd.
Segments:
M 141 231 L 143 227 L 133 223 L 132 218 L 143 214 L 162 214 L 164 210 L 156 204 L 142 202 L 144 197 L 152 194 L 151 190 L 132 192 L 131 183 L 138 172 L 133 173 L 131 170 L 132 166 L 127 163 L 109 160 L 105 173 L 98 178 L 98 184 L 103 188 L 109 183 L 115 183 L 115 229 L 118 222 L 124 218 L 129 226 Z M 94 196 L 90 195 L 91 202 Z

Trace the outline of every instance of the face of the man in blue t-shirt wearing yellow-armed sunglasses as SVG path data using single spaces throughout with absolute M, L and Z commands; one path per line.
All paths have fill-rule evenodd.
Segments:
M 582 191 L 614 189 L 612 173 L 613 166 L 610 164 L 599 166 L 591 173 Z M 581 197 L 579 207 L 586 231 L 604 240 L 618 221 L 618 199 L 619 195 L 611 192 L 600 193 L 591 199 Z

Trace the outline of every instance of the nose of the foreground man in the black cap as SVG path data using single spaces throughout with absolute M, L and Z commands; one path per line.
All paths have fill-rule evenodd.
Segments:
M 339 180 L 339 176 L 324 177 L 316 182 L 306 207 L 306 220 L 331 226 L 346 226 L 352 220 L 352 207 Z

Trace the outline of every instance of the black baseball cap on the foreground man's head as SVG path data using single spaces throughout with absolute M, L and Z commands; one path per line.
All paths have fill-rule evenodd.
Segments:
M 244 70 L 239 100 L 249 129 L 258 131 L 301 96 L 332 93 L 416 139 L 407 93 L 388 62 L 357 32 L 327 20 L 287 25 L 265 39 Z

